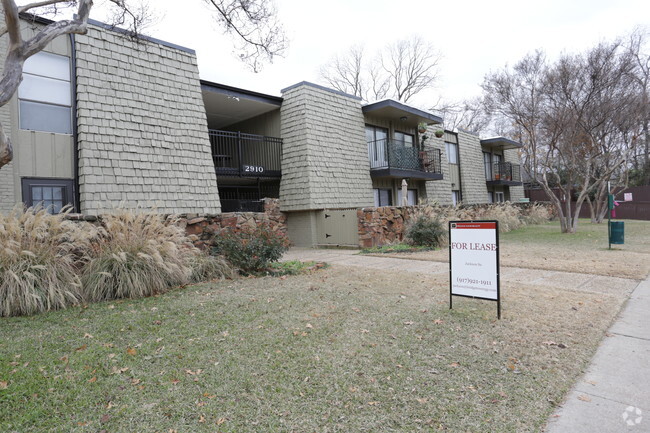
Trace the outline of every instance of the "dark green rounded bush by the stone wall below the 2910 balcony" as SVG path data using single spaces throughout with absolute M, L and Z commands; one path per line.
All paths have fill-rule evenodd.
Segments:
M 217 234 L 213 242 L 214 254 L 223 255 L 244 274 L 266 271 L 289 249 L 289 240 L 268 224 L 244 228 L 240 232 L 227 229 Z

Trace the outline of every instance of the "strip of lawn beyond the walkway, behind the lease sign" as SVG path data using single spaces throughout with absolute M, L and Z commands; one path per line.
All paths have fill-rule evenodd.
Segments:
M 644 279 L 650 273 L 650 221 L 626 220 L 625 244 L 608 249 L 607 223 L 580 220 L 563 234 L 559 222 L 526 226 L 499 236 L 502 266 Z M 449 251 L 399 253 L 395 257 L 446 262 Z

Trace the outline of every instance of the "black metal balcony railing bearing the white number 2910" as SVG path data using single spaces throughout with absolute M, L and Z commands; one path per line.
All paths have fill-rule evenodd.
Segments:
M 280 177 L 282 139 L 232 131 L 208 131 L 219 175 Z

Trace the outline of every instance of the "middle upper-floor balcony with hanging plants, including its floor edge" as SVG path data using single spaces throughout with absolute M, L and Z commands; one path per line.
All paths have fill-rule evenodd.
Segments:
M 442 179 L 440 149 L 422 151 L 383 139 L 368 142 L 368 157 L 372 177 Z

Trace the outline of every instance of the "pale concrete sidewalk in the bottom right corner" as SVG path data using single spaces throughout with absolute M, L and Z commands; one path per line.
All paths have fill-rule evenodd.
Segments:
M 609 330 L 548 433 L 650 432 L 650 278 Z

